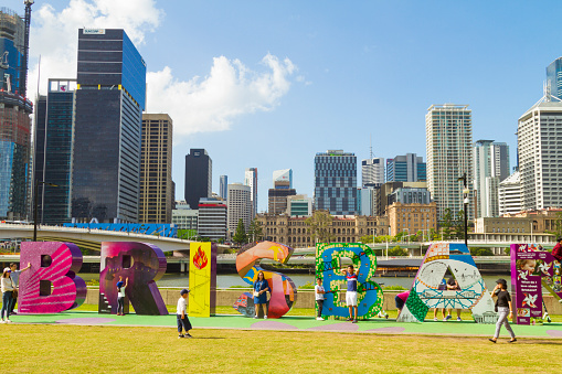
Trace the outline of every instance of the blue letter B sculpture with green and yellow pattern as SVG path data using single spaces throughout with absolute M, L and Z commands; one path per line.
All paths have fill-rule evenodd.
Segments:
M 371 281 L 377 271 L 377 256 L 364 244 L 358 243 L 321 243 L 316 245 L 316 275 L 321 275 L 326 291 L 337 291 L 339 286 L 346 290 L 346 276 L 342 276 L 341 257 L 349 257 L 359 267 L 358 275 L 358 319 L 369 319 L 382 310 L 384 301 L 381 287 Z M 316 307 L 318 308 L 318 306 Z M 338 293 L 327 293 L 322 316 L 333 319 L 349 317 L 344 300 L 338 301 Z

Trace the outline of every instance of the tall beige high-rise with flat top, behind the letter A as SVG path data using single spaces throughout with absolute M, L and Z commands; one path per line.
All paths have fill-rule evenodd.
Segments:
M 458 180 L 464 173 L 471 201 L 473 116 L 468 105 L 432 105 L 425 115 L 425 142 L 427 189 L 437 204 L 437 220 L 447 209 L 456 215 L 464 210 L 464 185 Z

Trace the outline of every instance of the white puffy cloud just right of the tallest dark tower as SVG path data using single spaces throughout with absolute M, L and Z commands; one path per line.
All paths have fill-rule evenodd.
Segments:
M 271 110 L 290 87 L 296 66 L 267 54 L 265 73 L 253 72 L 238 60 L 213 58 L 210 74 L 201 79 L 177 81 L 169 67 L 148 73 L 148 110 L 168 113 L 174 133 L 189 135 L 230 128 L 240 115 Z

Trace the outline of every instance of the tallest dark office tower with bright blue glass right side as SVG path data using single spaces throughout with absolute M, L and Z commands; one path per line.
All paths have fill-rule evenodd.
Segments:
M 138 222 L 146 64 L 123 30 L 78 30 L 72 216 Z

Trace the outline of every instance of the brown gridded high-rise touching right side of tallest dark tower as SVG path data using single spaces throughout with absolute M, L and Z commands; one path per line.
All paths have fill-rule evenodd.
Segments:
M 172 119 L 167 114 L 142 114 L 141 223 L 172 221 Z

